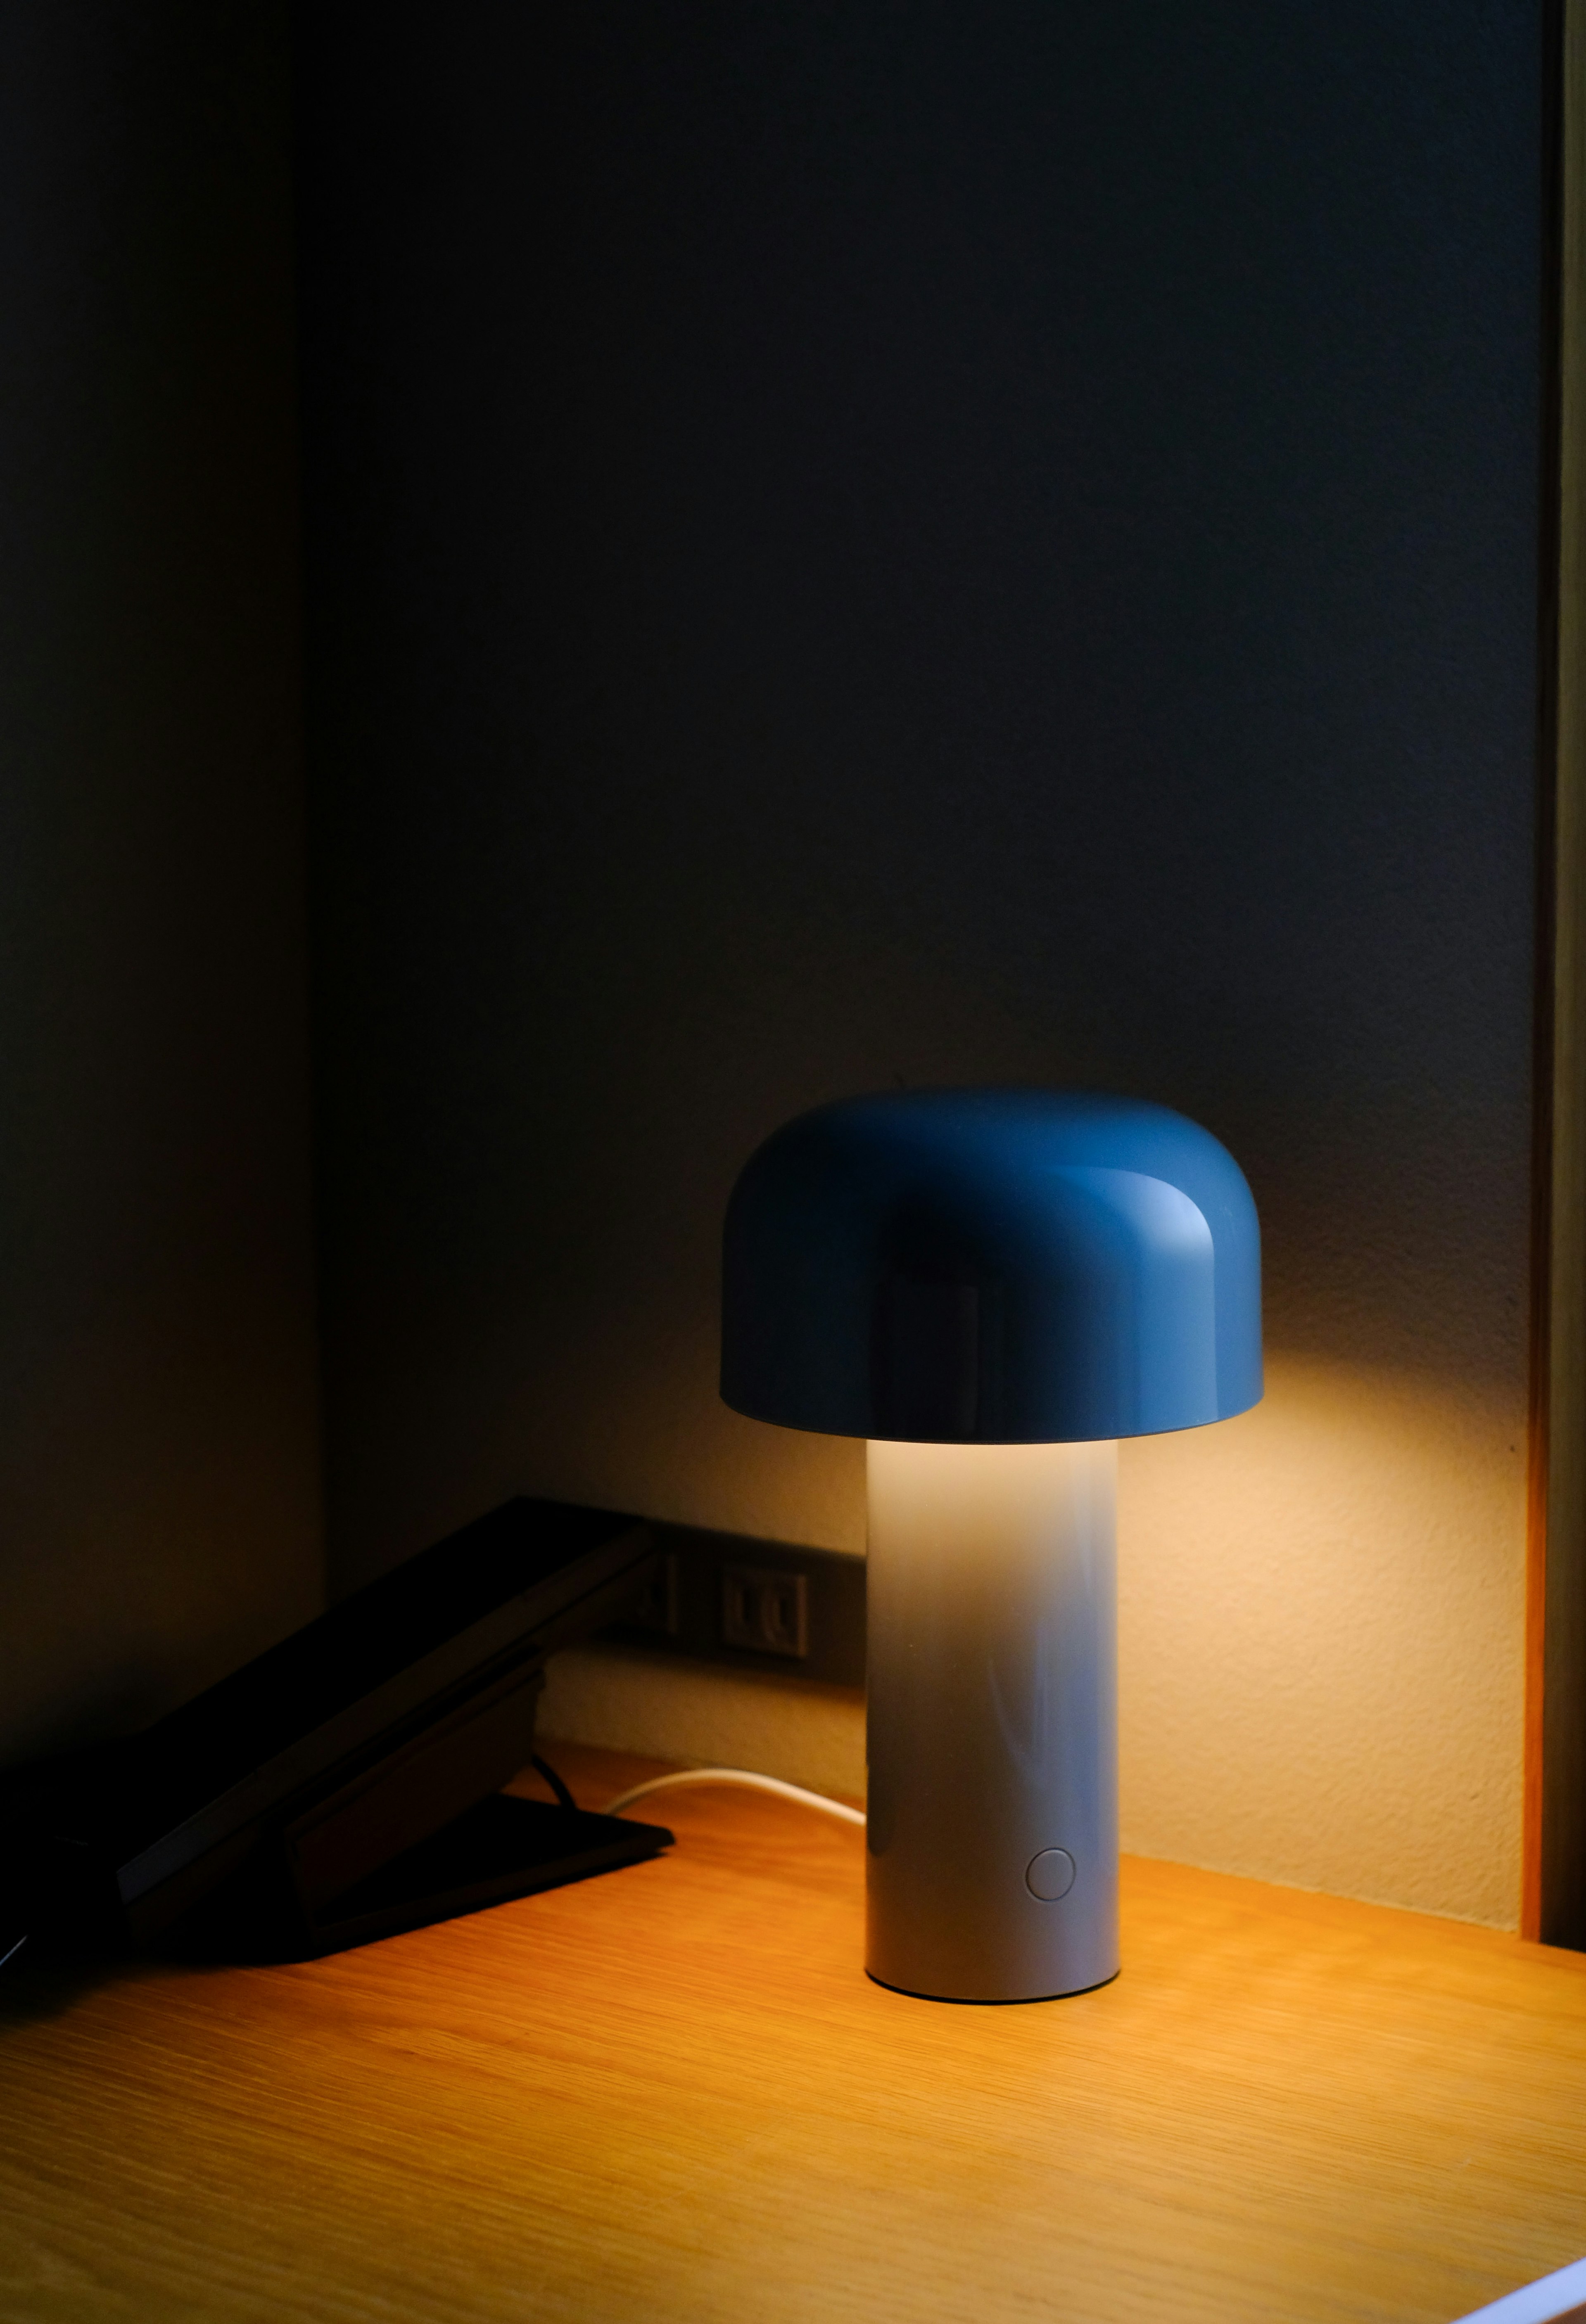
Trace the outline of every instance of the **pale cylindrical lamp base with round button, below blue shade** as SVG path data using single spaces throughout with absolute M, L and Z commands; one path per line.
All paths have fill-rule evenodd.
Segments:
M 1116 1446 L 867 1450 L 865 1968 L 937 2001 L 1119 1973 Z

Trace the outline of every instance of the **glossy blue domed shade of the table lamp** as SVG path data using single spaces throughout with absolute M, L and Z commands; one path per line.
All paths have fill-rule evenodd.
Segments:
M 726 1220 L 721 1394 L 909 1443 L 1058 1443 L 1260 1399 L 1260 1234 L 1233 1155 L 1167 1106 L 898 1090 L 819 1106 Z

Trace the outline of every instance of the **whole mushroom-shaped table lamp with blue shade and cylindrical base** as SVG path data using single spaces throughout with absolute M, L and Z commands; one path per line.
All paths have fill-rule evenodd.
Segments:
M 819 1106 L 726 1220 L 721 1394 L 867 1439 L 865 1968 L 940 2001 L 1119 1973 L 1116 1439 L 1260 1399 L 1237 1162 L 1165 1106 Z

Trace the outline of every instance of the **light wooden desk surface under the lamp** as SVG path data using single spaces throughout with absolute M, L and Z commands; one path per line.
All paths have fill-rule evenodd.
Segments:
M 5 2324 L 1449 2324 L 1586 2252 L 1586 1957 L 1133 1862 L 1116 1985 L 944 2008 L 858 1831 L 656 1813 L 337 1959 L 0 1980 Z

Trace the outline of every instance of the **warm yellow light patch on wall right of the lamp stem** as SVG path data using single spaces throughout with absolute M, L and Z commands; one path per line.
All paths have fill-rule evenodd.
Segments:
M 1123 1845 L 1514 1927 L 1523 1415 L 1267 1360 L 1119 1497 Z

